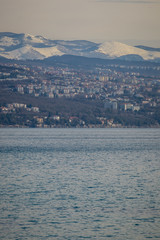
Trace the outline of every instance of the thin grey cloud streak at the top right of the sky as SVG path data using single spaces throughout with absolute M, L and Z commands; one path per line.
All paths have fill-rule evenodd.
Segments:
M 110 2 L 110 3 L 135 3 L 135 4 L 157 4 L 160 0 L 96 0 L 97 2 Z

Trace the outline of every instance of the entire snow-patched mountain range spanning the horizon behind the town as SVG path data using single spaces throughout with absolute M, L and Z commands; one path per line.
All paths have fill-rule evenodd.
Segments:
M 76 55 L 103 59 L 151 60 L 160 59 L 160 51 L 145 50 L 119 42 L 102 44 L 85 41 L 50 40 L 42 36 L 0 33 L 0 56 L 8 59 L 45 59 L 52 56 Z

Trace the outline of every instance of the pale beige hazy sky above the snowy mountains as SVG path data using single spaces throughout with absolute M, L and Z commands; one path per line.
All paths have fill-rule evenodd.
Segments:
M 160 0 L 0 0 L 0 32 L 160 47 Z

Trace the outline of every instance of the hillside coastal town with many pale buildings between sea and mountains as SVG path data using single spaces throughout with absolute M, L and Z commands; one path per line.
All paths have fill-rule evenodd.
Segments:
M 0 63 L 0 85 L 2 127 L 158 127 L 160 124 L 158 64 L 122 62 L 82 69 Z M 58 107 L 59 103 L 64 103 L 64 108 L 67 105 L 66 109 Z M 85 110 L 80 106 L 82 103 L 86 104 Z M 67 110 L 69 105 L 72 110 Z

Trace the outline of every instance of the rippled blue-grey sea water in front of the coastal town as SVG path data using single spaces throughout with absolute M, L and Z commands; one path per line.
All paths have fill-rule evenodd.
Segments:
M 0 239 L 160 239 L 160 129 L 0 129 Z

